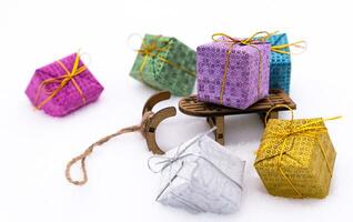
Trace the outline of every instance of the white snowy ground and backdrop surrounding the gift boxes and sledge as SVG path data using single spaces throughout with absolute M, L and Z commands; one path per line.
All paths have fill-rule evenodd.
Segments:
M 0 0 L 0 221 L 350 221 L 352 14 L 350 1 L 340 0 Z M 344 117 L 326 123 L 337 150 L 326 199 L 265 192 L 252 167 L 263 130 L 253 114 L 226 119 L 226 149 L 248 161 L 235 214 L 193 215 L 154 202 L 159 175 L 147 168 L 151 153 L 139 133 L 98 149 L 88 159 L 87 185 L 65 181 L 67 161 L 99 138 L 139 123 L 155 92 L 129 77 L 135 57 L 127 46 L 130 33 L 172 36 L 195 49 L 214 32 L 244 37 L 260 30 L 309 42 L 304 54 L 292 57 L 295 118 Z M 24 89 L 36 68 L 79 48 L 105 87 L 99 101 L 61 119 L 33 111 Z M 206 129 L 203 119 L 179 112 L 160 125 L 158 142 L 168 150 Z

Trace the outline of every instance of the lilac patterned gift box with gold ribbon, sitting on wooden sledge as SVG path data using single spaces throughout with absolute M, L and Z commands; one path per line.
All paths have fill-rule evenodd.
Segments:
M 198 47 L 198 99 L 246 109 L 269 94 L 271 44 L 226 34 Z

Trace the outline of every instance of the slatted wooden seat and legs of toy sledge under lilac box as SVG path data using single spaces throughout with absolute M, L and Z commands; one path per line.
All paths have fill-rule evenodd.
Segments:
M 216 130 L 214 131 L 215 141 L 224 145 L 224 115 L 258 113 L 264 122 L 266 112 L 276 104 L 286 104 L 293 110 L 296 109 L 296 104 L 283 90 L 270 90 L 270 94 L 265 99 L 245 110 L 200 102 L 198 101 L 196 95 L 182 98 L 179 101 L 179 110 L 188 115 L 206 118 L 211 128 L 216 127 Z M 283 110 L 286 109 L 279 108 L 274 110 L 269 114 L 269 119 L 278 119 L 279 112 Z

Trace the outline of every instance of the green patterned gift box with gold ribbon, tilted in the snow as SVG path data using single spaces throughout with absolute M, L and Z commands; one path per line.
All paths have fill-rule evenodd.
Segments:
M 141 49 L 153 43 L 158 48 L 150 50 L 151 54 L 138 53 L 130 75 L 174 95 L 191 94 L 195 83 L 195 51 L 175 38 L 151 34 L 144 36 Z

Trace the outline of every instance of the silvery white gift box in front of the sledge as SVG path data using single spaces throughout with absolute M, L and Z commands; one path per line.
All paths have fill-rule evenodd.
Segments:
M 182 154 L 185 157 L 162 170 L 157 201 L 191 213 L 236 212 L 245 162 L 206 135 L 190 141 L 185 144 L 191 147 Z M 178 152 L 175 148 L 165 157 L 173 158 Z

